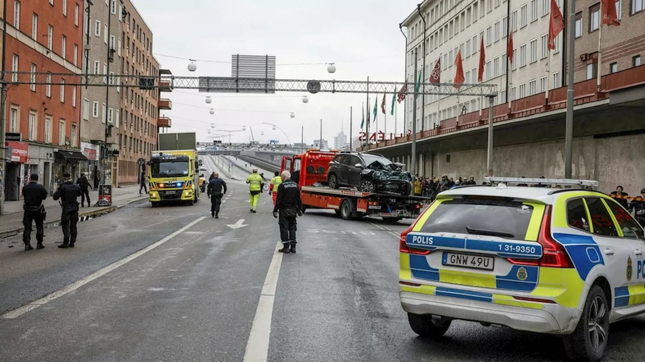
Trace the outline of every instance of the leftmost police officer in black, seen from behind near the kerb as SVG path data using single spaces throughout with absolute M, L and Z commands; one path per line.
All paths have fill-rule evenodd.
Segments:
M 47 198 L 47 191 L 43 185 L 38 184 L 38 175 L 35 173 L 29 177 L 29 183 L 23 187 L 23 197 L 25 204 L 23 209 L 23 242 L 25 243 L 25 251 L 34 250 L 31 244 L 32 238 L 32 224 L 36 223 L 36 249 L 43 249 L 43 236 L 45 236 L 45 229 L 43 222 L 45 222 L 45 206 L 43 200 Z

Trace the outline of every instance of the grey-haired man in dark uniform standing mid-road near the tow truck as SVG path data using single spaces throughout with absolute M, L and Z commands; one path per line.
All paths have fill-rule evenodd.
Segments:
M 273 217 L 277 218 L 279 213 L 278 225 L 280 225 L 280 239 L 283 248 L 279 252 L 295 252 L 295 216 L 303 215 L 303 202 L 300 199 L 300 189 L 298 184 L 291 180 L 291 173 L 283 171 L 280 175 L 282 183 L 278 186 L 278 195 L 275 198 L 273 206 Z

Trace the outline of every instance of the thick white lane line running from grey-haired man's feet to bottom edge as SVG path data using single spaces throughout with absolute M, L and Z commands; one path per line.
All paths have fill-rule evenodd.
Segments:
M 268 358 L 273 300 L 275 300 L 275 287 L 278 283 L 283 258 L 283 254 L 278 252 L 278 249 L 282 246 L 282 243 L 277 243 L 273 251 L 273 258 L 269 270 L 266 272 L 260 300 L 257 302 L 251 333 L 246 342 L 243 362 L 266 362 Z

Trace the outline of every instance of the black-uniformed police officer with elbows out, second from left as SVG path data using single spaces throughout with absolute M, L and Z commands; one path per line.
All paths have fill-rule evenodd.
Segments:
M 76 224 L 79 222 L 79 202 L 78 197 L 81 195 L 81 187 L 72 182 L 70 173 L 63 173 L 63 184 L 54 193 L 54 200 L 61 199 L 61 226 L 63 226 L 63 243 L 58 245 L 60 248 L 74 247 L 78 229 Z

